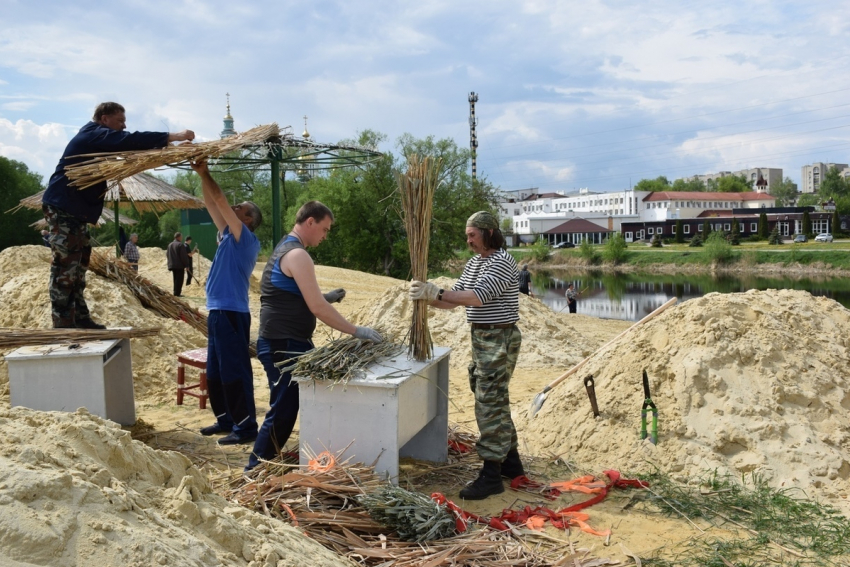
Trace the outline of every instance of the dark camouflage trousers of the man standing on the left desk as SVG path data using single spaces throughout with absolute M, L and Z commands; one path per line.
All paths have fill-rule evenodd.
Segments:
M 91 259 L 91 241 L 84 221 L 68 213 L 42 206 L 53 251 L 50 265 L 50 303 L 55 328 L 73 327 L 75 321 L 91 317 L 83 292 Z

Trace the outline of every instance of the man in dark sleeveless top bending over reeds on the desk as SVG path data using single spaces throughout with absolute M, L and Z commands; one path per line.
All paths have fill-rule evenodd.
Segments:
M 331 303 L 345 297 L 344 289 L 323 294 L 316 281 L 313 259 L 306 248 L 318 246 L 333 224 L 333 213 L 319 201 L 305 203 L 296 214 L 295 227 L 275 247 L 260 282 L 260 337 L 257 358 L 269 380 L 271 405 L 260 427 L 245 470 L 280 453 L 298 417 L 298 384 L 292 373 L 278 366 L 313 348 L 316 319 L 364 341 L 381 342 L 380 333 L 348 322 Z

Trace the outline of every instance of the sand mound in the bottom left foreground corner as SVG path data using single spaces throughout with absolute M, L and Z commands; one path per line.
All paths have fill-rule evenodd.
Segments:
M 0 410 L 0 447 L 4 565 L 350 565 L 85 410 Z

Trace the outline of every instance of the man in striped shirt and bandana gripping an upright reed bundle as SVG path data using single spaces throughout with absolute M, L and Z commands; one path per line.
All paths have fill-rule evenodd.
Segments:
M 499 222 L 487 211 L 466 221 L 466 243 L 476 252 L 450 290 L 414 281 L 410 299 L 426 300 L 439 309 L 463 305 L 472 330 L 469 386 L 475 394 L 475 419 L 480 433 L 476 450 L 484 461 L 478 478 L 460 491 L 461 498 L 481 500 L 505 491 L 502 477 L 525 471 L 511 420 L 508 385 L 516 367 L 522 334 L 519 320 L 519 271 L 504 249 Z

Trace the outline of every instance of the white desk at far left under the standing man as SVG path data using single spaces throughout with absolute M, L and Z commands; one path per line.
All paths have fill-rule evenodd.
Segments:
M 136 423 L 128 339 L 84 341 L 79 346 L 21 347 L 6 355 L 11 405 L 41 411 L 76 411 Z

